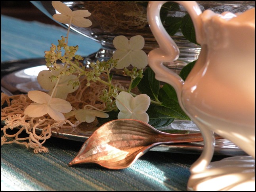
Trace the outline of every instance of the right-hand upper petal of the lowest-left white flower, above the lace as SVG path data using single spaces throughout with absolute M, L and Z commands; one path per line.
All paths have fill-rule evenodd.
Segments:
M 50 100 L 49 106 L 52 109 L 55 109 L 61 113 L 68 113 L 72 110 L 72 106 L 69 102 L 66 100 L 60 99 L 60 98 L 52 98 Z

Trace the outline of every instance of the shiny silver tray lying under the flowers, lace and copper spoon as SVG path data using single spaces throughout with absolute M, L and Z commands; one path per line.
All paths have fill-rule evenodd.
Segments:
M 14 60 L 1 63 L 1 90 L 6 94 L 21 94 L 29 90 L 39 90 L 36 81 L 37 74 L 44 70 L 44 58 L 29 60 Z M 46 67 L 45 67 L 46 68 Z M 170 130 L 189 130 L 190 133 L 198 132 L 198 128 L 191 121 L 175 120 L 172 124 L 164 128 L 164 132 Z M 97 129 L 97 127 L 81 124 L 76 128 L 60 128 L 52 130 L 52 137 L 59 137 L 73 141 L 84 142 Z M 38 129 L 38 132 L 41 130 Z M 161 131 L 161 130 L 160 130 Z M 200 154 L 203 150 L 203 142 L 179 143 L 172 145 L 159 145 L 151 151 L 176 152 L 186 154 Z M 240 156 L 247 155 L 239 147 L 227 139 L 216 139 L 215 155 Z

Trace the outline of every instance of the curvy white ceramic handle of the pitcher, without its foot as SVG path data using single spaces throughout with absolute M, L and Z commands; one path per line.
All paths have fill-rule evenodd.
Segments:
M 181 88 L 184 81 L 179 75 L 177 75 L 172 70 L 166 68 L 162 63 L 163 62 L 173 62 L 178 59 L 180 51 L 176 43 L 172 40 L 170 35 L 164 29 L 162 22 L 160 20 L 160 8 L 166 1 L 151 1 L 148 4 L 147 8 L 147 19 L 149 26 L 157 43 L 159 44 L 159 49 L 153 49 L 148 54 L 148 63 L 151 69 L 155 72 L 155 78 L 159 81 L 168 83 L 174 87 L 178 95 L 178 100 L 180 102 Z M 181 4 L 187 9 L 189 15 L 191 16 L 195 31 L 197 41 L 201 42 L 201 15 L 202 11 L 199 8 L 198 4 L 193 1 L 174 1 Z M 168 77 L 168 78 L 166 78 Z

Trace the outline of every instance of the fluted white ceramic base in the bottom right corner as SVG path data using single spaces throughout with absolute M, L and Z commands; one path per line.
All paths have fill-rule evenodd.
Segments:
M 201 173 L 192 174 L 188 190 L 255 191 L 255 160 L 234 156 L 212 162 Z

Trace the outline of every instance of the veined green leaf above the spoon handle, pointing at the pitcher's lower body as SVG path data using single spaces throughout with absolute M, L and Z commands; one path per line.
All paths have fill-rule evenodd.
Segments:
M 178 101 L 174 99 L 164 100 L 161 105 L 155 107 L 155 110 L 170 117 L 190 120 L 186 113 L 181 109 Z

